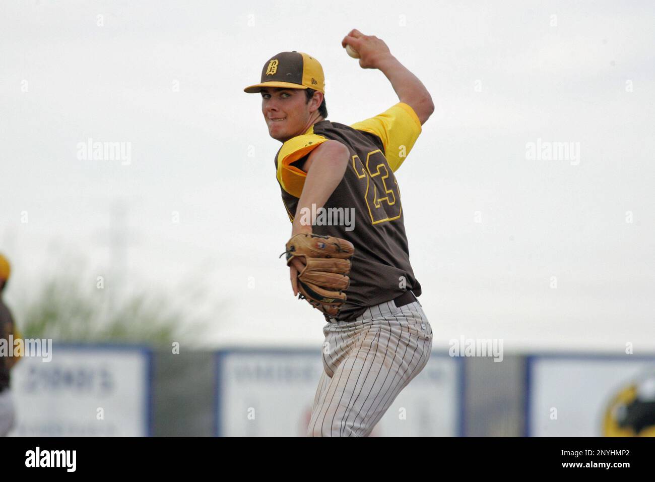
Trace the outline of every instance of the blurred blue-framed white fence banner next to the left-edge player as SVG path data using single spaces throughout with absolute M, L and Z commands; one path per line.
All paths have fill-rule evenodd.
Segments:
M 10 435 L 147 437 L 151 357 L 138 346 L 62 344 L 50 363 L 24 357 L 12 372 Z

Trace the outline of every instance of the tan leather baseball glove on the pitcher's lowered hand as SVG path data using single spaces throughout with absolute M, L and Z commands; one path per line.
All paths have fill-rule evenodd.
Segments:
M 318 234 L 297 234 L 286 243 L 287 266 L 293 258 L 304 258 L 298 275 L 298 298 L 307 300 L 327 317 L 336 317 L 346 301 L 350 285 L 350 258 L 355 248 L 345 239 Z M 282 256 L 282 255 L 280 255 Z

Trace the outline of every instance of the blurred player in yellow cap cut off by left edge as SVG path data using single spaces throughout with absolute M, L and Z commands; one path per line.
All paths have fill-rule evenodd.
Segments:
M 9 343 L 9 336 L 20 337 L 14 325 L 14 318 L 3 300 L 3 293 L 11 273 L 9 261 L 0 254 L 0 338 L 7 340 L 7 350 L 13 352 L 14 346 Z M 0 437 L 5 437 L 13 428 L 15 421 L 14 401 L 9 390 L 9 373 L 20 359 L 17 356 L 0 355 Z

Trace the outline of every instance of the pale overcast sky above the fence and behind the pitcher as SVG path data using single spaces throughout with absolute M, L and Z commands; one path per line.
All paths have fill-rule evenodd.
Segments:
M 436 104 L 396 173 L 435 347 L 652 352 L 654 14 L 646 1 L 3 1 L 6 298 L 29 298 L 69 254 L 92 286 L 103 275 L 171 300 L 206 287 L 216 346 L 322 342 L 278 259 L 291 231 L 280 144 L 242 89 L 298 50 L 322 63 L 330 120 L 386 110 L 386 77 L 341 48 L 358 28 Z M 88 138 L 129 142 L 129 165 L 79 159 Z M 527 159 L 538 140 L 580 157 Z

